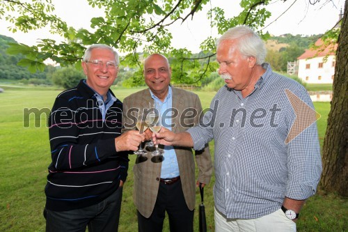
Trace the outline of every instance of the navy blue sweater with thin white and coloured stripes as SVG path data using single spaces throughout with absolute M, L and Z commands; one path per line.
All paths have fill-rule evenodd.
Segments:
M 95 93 L 83 80 L 57 96 L 49 116 L 48 210 L 92 206 L 125 182 L 128 155 L 115 148 L 121 127 L 122 102 L 113 102 L 103 121 Z

